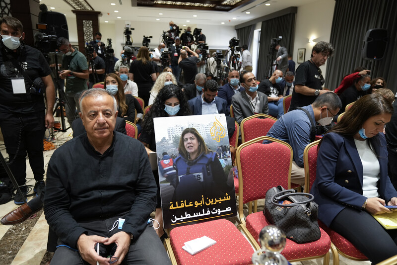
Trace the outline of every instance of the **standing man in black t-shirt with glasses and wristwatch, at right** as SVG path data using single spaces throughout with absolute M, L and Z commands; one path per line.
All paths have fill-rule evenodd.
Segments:
M 318 95 L 331 92 L 322 88 L 325 80 L 320 66 L 326 63 L 332 53 L 333 47 L 331 43 L 320 41 L 314 45 L 311 59 L 298 66 L 289 111 L 297 107 L 310 105 L 316 100 Z

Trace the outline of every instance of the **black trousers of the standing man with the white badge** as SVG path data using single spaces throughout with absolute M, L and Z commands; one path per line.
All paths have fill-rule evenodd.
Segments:
M 36 114 L 14 114 L 0 118 L 1 132 L 9 156 L 9 168 L 18 185 L 26 182 L 26 153 L 35 180 L 43 180 L 43 137 L 46 130 L 44 111 Z

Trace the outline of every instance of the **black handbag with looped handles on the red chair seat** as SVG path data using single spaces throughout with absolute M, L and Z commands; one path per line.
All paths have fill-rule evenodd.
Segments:
M 321 237 L 317 222 L 319 206 L 313 199 L 310 193 L 295 192 L 282 186 L 272 187 L 266 192 L 265 217 L 296 243 L 318 240 Z

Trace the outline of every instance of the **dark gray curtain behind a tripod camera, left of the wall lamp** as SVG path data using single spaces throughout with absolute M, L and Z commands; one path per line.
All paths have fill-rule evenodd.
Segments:
M 282 15 L 262 22 L 261 40 L 258 58 L 257 80 L 264 80 L 271 67 L 271 62 L 275 58 L 270 58 L 270 40 L 282 36 L 280 46 L 287 48 L 289 52 L 293 48 L 295 30 L 295 13 Z M 274 53 L 275 57 L 276 53 Z

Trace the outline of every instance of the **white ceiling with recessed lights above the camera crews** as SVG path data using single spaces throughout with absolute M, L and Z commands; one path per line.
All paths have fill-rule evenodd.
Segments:
M 255 18 L 279 11 L 290 6 L 299 6 L 318 0 L 248 0 L 231 11 L 199 10 L 189 6 L 188 9 L 169 7 L 132 6 L 136 0 L 86 0 L 95 10 L 100 11 L 100 23 L 115 23 L 122 21 L 164 22 L 170 20 L 181 26 L 211 24 L 235 26 Z M 192 0 L 193 2 L 194 0 Z M 138 0 L 139 2 L 139 0 Z M 169 1 L 168 1 L 169 2 Z M 205 2 L 205 1 L 200 1 Z M 211 2 L 211 1 L 208 1 Z M 72 7 L 64 0 L 40 0 L 47 5 L 48 10 L 64 13 L 66 18 L 75 18 Z M 111 5 L 114 3 L 114 5 Z M 270 4 L 270 5 L 266 5 Z M 167 5 L 169 6 L 169 5 Z M 54 7 L 54 8 L 51 8 Z M 50 9 L 51 8 L 51 9 Z M 118 11 L 118 12 L 116 12 Z M 247 14 L 246 12 L 250 12 Z M 119 18 L 118 18 L 119 17 Z

